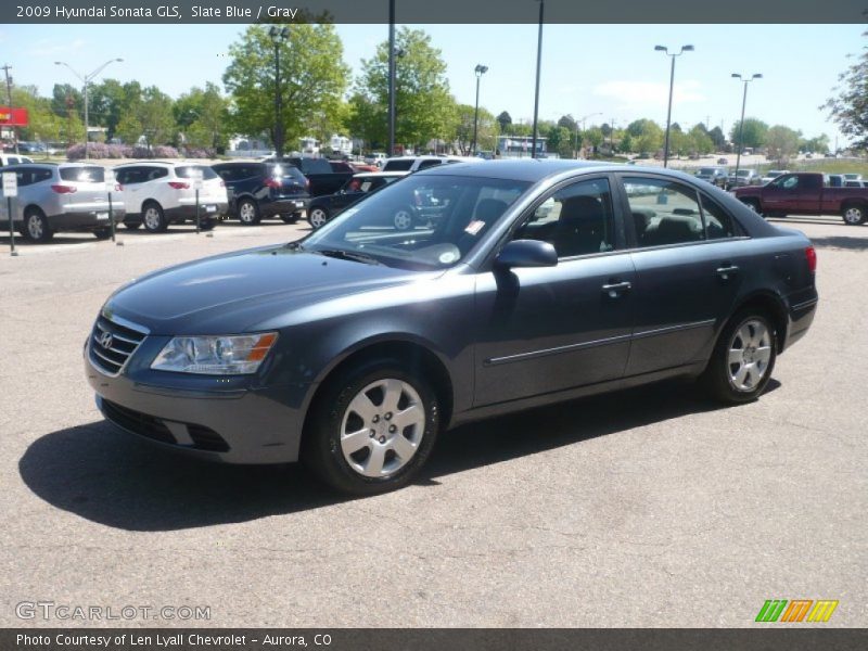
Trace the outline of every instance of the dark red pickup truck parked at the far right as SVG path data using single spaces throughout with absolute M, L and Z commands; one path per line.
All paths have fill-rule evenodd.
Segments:
M 822 174 L 784 174 L 765 186 L 737 188 L 732 193 L 766 217 L 841 215 L 850 226 L 868 220 L 868 188 L 830 188 Z

